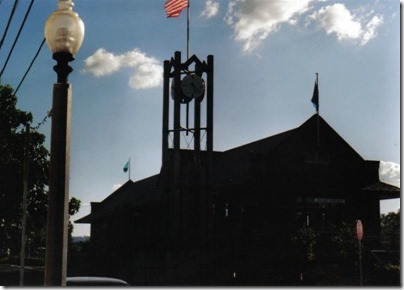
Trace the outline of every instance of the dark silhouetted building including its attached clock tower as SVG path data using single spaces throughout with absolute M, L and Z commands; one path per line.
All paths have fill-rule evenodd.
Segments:
M 205 77 L 206 102 L 181 94 L 182 74 Z M 188 114 L 183 128 L 181 108 L 189 104 L 193 128 Z M 181 147 L 181 132 L 192 134 L 193 148 Z M 303 275 L 291 242 L 297 229 L 314 231 L 318 259 L 332 263 L 339 259 L 330 250 L 335 226 L 360 219 L 363 242 L 377 248 L 379 202 L 400 195 L 379 181 L 378 161 L 364 160 L 318 114 L 298 128 L 213 151 L 213 56 L 181 63 L 176 52 L 165 62 L 162 133 L 161 172 L 129 180 L 76 221 L 91 224 L 80 274 L 132 285 L 294 285 Z

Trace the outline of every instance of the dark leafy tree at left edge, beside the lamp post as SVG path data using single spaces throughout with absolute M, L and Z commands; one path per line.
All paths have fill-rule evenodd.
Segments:
M 25 126 L 32 114 L 16 108 L 17 97 L 9 85 L 0 84 L 0 257 L 17 255 L 21 239 L 23 163 L 28 148 L 29 178 L 27 197 L 27 240 L 31 249 L 45 246 L 49 151 L 45 136 L 30 130 L 26 142 Z M 72 198 L 71 211 L 80 201 Z

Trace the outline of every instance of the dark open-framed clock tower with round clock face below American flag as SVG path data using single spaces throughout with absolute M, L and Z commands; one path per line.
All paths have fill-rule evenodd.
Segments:
M 202 113 L 206 115 L 202 116 Z M 213 184 L 213 56 L 164 62 L 161 190 L 170 251 L 205 248 Z M 190 140 L 190 141 L 189 141 Z M 175 250 L 176 249 L 176 250 Z

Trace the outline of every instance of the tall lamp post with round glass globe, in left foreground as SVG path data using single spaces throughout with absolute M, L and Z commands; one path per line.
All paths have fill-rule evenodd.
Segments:
M 51 157 L 49 170 L 48 217 L 46 229 L 45 286 L 66 286 L 69 160 L 72 88 L 67 77 L 69 62 L 84 38 L 84 24 L 73 12 L 71 0 L 59 0 L 45 24 L 45 38 L 57 73 L 53 86 Z

